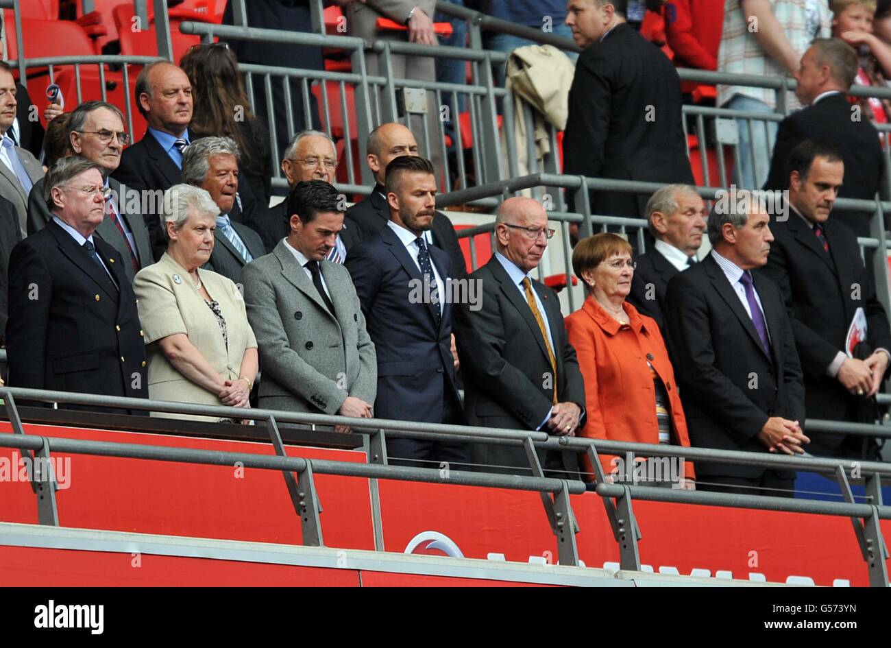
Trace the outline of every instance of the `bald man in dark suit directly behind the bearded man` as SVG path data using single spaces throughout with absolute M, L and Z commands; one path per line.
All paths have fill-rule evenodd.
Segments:
M 376 184 L 368 198 L 347 209 L 347 218 L 359 227 L 363 240 L 378 234 L 389 221 L 387 193 L 384 189 L 387 165 L 400 155 L 418 155 L 418 143 L 411 130 L 402 124 L 390 122 L 372 130 L 368 135 L 366 149 L 368 168 L 372 169 Z M 458 245 L 452 221 L 441 211 L 436 212 L 433 226 L 424 234 L 424 238 L 429 244 L 448 253 L 455 277 L 467 274 L 464 255 Z

